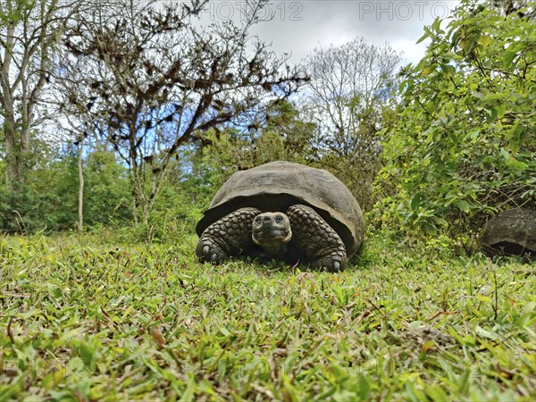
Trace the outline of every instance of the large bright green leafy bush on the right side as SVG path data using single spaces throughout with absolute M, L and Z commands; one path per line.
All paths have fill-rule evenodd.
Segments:
M 381 222 L 471 236 L 487 214 L 536 207 L 533 24 L 464 0 L 425 28 L 377 180 Z

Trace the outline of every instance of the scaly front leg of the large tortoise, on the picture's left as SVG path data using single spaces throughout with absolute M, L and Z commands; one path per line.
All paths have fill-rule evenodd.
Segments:
M 240 208 L 205 229 L 197 242 L 196 255 L 200 261 L 221 264 L 230 256 L 239 255 L 253 245 L 251 228 L 256 208 Z

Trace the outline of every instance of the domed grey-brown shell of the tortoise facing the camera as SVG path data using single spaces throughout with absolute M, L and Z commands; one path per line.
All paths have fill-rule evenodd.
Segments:
M 339 233 L 351 255 L 364 239 L 361 208 L 350 190 L 330 172 L 290 162 L 272 162 L 234 173 L 214 196 L 197 234 L 245 206 L 286 213 L 290 205 L 309 205 Z

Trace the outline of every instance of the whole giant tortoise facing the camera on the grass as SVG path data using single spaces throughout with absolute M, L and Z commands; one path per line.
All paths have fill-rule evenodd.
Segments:
M 251 255 L 344 269 L 364 237 L 361 208 L 330 172 L 272 162 L 234 173 L 197 223 L 197 257 Z

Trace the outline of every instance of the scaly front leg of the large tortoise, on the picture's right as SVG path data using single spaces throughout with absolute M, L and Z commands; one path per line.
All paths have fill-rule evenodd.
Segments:
M 329 272 L 344 270 L 346 247 L 339 234 L 313 208 L 292 205 L 287 211 L 298 250 L 315 268 Z

